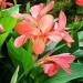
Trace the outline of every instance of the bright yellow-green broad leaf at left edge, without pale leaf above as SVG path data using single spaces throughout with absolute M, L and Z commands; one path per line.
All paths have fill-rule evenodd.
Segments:
M 7 37 L 9 33 L 12 31 L 17 23 L 17 19 L 10 17 L 10 14 L 7 11 L 1 11 L 0 12 L 0 23 L 4 28 L 4 33 L 0 34 L 0 46 L 3 44 L 6 41 Z

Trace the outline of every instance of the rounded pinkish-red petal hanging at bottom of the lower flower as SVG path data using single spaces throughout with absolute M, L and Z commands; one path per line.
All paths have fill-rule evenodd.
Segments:
M 55 63 L 50 62 L 50 63 L 43 64 L 42 66 L 43 66 L 44 73 L 49 76 L 52 76 L 58 73 L 58 64 Z

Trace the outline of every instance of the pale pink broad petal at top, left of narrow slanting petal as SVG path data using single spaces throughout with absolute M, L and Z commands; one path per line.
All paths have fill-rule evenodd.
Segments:
M 42 10 L 42 8 L 43 8 L 43 3 L 40 3 L 38 6 L 33 6 L 31 8 L 31 14 L 32 14 L 32 17 L 33 18 L 38 18 L 38 15 L 39 15 L 40 11 Z

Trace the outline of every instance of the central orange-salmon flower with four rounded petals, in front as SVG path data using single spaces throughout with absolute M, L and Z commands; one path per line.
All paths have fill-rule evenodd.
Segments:
M 33 52 L 38 55 L 45 49 L 48 42 L 48 32 L 51 31 L 54 24 L 54 18 L 51 14 L 45 14 L 35 23 L 31 21 L 22 21 L 15 25 L 15 31 L 21 35 L 14 41 L 14 46 L 20 48 L 31 39 L 33 42 Z M 37 46 L 38 45 L 38 46 Z

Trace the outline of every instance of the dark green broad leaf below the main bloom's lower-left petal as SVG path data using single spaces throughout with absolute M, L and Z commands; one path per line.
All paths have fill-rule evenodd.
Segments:
M 8 43 L 8 52 L 14 64 L 19 64 L 24 71 L 30 71 L 33 66 L 33 56 L 32 56 L 32 43 L 29 44 L 29 50 L 23 48 L 14 48 L 13 40 L 11 39 Z

